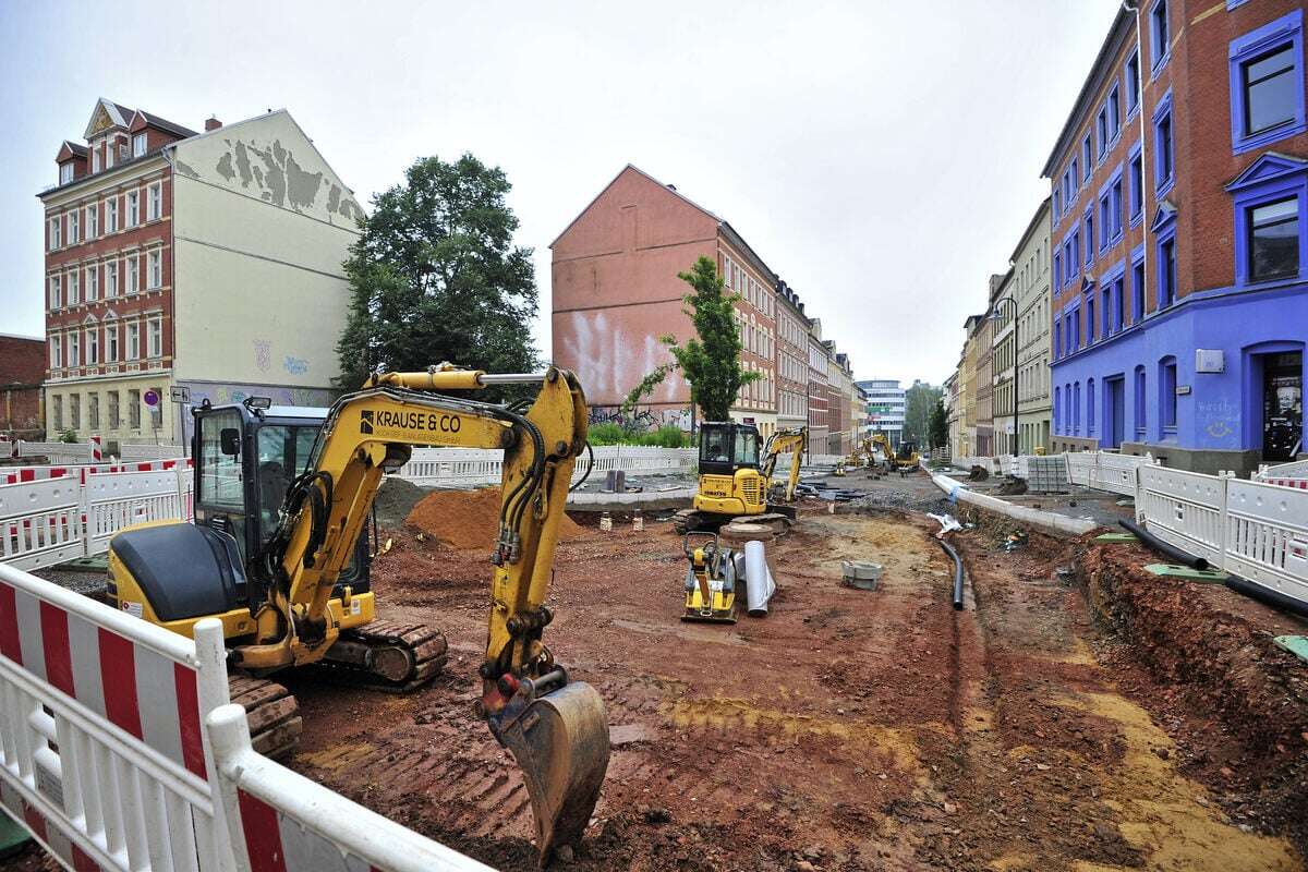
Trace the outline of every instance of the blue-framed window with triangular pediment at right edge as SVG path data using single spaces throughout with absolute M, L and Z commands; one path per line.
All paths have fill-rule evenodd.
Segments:
M 1269 152 L 1227 191 L 1235 207 L 1235 284 L 1308 276 L 1308 159 Z

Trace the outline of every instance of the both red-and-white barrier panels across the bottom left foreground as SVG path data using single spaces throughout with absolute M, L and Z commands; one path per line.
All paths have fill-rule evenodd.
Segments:
M 254 752 L 195 641 L 0 565 L 0 804 L 73 872 L 488 867 Z

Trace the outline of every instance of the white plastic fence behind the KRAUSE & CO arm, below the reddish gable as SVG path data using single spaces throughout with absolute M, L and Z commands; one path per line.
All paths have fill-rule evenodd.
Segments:
M 655 448 L 608 444 L 594 448 L 595 465 L 591 480 L 603 478 L 611 469 L 625 472 L 684 472 L 696 468 L 695 448 Z M 586 472 L 585 454 L 577 459 L 573 481 Z M 408 463 L 395 475 L 424 488 L 476 488 L 498 484 L 504 469 L 504 451 L 483 448 L 413 448 Z

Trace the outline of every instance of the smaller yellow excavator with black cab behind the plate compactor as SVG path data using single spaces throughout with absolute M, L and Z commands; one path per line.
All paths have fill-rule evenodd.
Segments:
M 759 429 L 735 421 L 708 421 L 700 426 L 700 482 L 691 502 L 672 516 L 683 536 L 697 529 L 717 529 L 734 518 L 794 519 L 799 465 L 808 447 L 808 428 L 777 430 L 759 452 Z M 785 484 L 772 481 L 780 455 L 790 452 Z M 776 499 L 776 502 L 769 502 Z

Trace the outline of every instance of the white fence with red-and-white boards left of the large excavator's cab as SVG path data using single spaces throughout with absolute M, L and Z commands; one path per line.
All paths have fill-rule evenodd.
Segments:
M 18 467 L 0 481 L 0 563 L 18 569 L 98 554 L 129 524 L 194 516 L 186 460 Z

